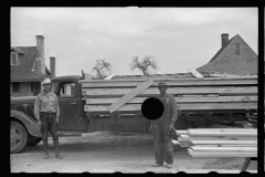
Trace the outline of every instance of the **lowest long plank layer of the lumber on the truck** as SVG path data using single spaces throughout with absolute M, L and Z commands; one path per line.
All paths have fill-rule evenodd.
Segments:
M 177 104 L 179 111 L 222 111 L 222 110 L 257 110 L 257 103 L 198 103 Z M 108 112 L 108 105 L 85 105 L 86 112 Z M 141 104 L 126 104 L 117 111 L 141 111 Z

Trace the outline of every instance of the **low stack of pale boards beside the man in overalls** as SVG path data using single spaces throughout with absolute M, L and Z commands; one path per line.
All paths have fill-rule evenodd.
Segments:
M 257 129 L 197 128 L 177 131 L 179 142 L 192 145 L 192 157 L 257 157 Z

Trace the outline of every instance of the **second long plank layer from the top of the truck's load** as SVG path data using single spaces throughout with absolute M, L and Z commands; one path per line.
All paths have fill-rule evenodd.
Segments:
M 83 95 L 87 96 L 123 96 L 129 93 L 132 88 L 84 88 Z M 183 94 L 219 94 L 219 95 L 256 95 L 257 86 L 242 86 L 242 87 L 169 87 L 168 94 L 183 95 Z M 159 91 L 156 87 L 149 87 L 141 92 L 138 96 L 157 96 Z

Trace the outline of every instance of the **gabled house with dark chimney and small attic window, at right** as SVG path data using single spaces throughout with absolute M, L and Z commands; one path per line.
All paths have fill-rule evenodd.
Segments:
M 229 40 L 229 34 L 223 33 L 221 43 L 221 49 L 209 63 L 197 69 L 199 72 L 257 74 L 257 54 L 240 34 Z

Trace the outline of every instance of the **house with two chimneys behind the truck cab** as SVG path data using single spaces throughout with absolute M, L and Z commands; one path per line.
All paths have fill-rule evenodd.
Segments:
M 55 58 L 45 65 L 44 37 L 36 35 L 36 46 L 10 48 L 10 93 L 12 96 L 34 96 L 41 91 L 41 81 L 55 76 Z

